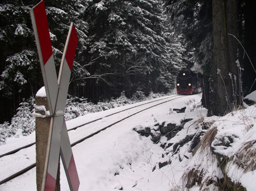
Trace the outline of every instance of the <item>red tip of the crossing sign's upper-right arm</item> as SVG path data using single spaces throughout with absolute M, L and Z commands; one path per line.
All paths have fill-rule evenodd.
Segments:
M 77 47 L 78 41 L 79 41 L 79 38 L 78 38 L 77 33 L 76 33 L 76 28 L 75 28 L 75 25 L 73 25 L 72 31 L 71 31 L 71 36 L 69 38 L 67 53 L 66 53 L 66 56 L 65 56 L 65 59 L 68 62 L 68 66 L 69 66 L 70 70 L 72 70 L 72 67 L 73 67 L 73 61 L 74 61 L 74 58 L 75 58 L 76 47 Z

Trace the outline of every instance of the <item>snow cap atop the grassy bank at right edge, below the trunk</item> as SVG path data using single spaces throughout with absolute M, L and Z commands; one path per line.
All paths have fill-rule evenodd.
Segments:
M 212 143 L 214 151 L 225 156 L 232 156 L 238 148 L 247 141 L 256 139 L 256 105 L 241 109 L 218 118 L 213 126 L 217 126 L 218 133 Z M 225 139 L 227 146 L 220 145 Z

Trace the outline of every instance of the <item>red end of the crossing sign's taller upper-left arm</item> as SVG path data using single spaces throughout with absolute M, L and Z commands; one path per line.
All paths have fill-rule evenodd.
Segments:
M 46 16 L 46 7 L 44 1 L 41 1 L 34 9 L 36 28 L 38 29 L 38 36 L 40 47 L 43 56 L 44 65 L 52 56 L 51 37 L 49 35 L 49 28 Z

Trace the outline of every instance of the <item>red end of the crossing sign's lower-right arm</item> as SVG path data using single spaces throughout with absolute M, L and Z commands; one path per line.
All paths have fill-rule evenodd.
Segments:
M 77 174 L 76 163 L 73 155 L 68 166 L 68 175 L 70 177 L 73 191 L 77 191 L 79 189 L 80 181 L 79 176 Z

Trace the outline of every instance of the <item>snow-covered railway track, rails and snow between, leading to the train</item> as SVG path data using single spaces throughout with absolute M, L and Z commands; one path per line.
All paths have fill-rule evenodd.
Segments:
M 106 116 L 96 118 L 95 120 L 88 121 L 88 122 L 86 122 L 84 124 L 81 124 L 79 126 L 75 126 L 73 128 L 70 128 L 70 129 L 68 129 L 68 131 L 69 131 L 69 138 L 71 139 L 71 142 L 72 142 L 71 145 L 75 146 L 78 143 L 81 143 L 82 141 L 85 141 L 85 139 L 93 137 L 94 135 L 100 133 L 102 130 L 110 128 L 111 126 L 113 126 L 115 124 L 118 124 L 119 122 L 121 122 L 123 120 L 126 120 L 127 118 L 129 118 L 131 116 L 134 116 L 135 114 L 141 113 L 143 111 L 146 111 L 147 109 L 150 109 L 152 107 L 156 107 L 160 104 L 167 103 L 168 101 L 179 99 L 180 97 L 183 97 L 183 96 L 176 96 L 176 95 L 175 96 L 168 96 L 168 97 L 164 97 L 162 99 L 158 99 L 158 100 L 150 101 L 150 102 L 147 102 L 147 103 L 139 104 L 139 105 L 136 105 L 134 107 L 123 109 L 121 111 L 118 111 L 118 112 L 115 112 L 115 113 L 112 113 L 112 114 L 108 114 Z M 129 112 L 125 112 L 125 111 L 129 111 Z M 116 120 L 116 119 L 114 121 L 111 120 L 112 117 L 110 117 L 110 116 L 114 116 L 114 115 L 118 115 L 119 120 Z M 108 120 L 106 120 L 107 118 L 108 118 Z M 115 118 L 115 117 L 113 117 L 113 118 Z M 97 124 L 99 121 L 101 121 L 101 122 L 99 124 Z M 104 128 L 102 128 L 100 126 L 100 124 L 102 124 L 102 122 L 105 122 L 105 124 L 106 124 Z M 86 127 L 86 129 L 85 129 L 85 127 Z M 72 131 L 74 131 L 74 130 L 81 131 L 79 133 L 79 137 L 77 137 L 78 133 L 72 133 Z M 30 146 L 29 145 L 23 146 L 23 147 L 20 147 L 20 149 L 18 148 L 18 149 L 15 149 L 13 151 L 7 152 L 7 154 L 5 154 L 5 155 L 1 155 L 1 159 L 0 159 L 1 163 L 2 164 L 5 163 L 5 162 L 6 162 L 6 164 L 7 163 L 16 163 L 15 160 L 11 160 L 13 158 L 12 156 L 13 155 L 20 155 L 20 152 L 24 152 L 23 150 L 26 150 L 26 149 L 34 149 L 35 150 L 35 146 L 33 146 L 33 145 L 35 145 L 35 143 L 31 143 Z M 19 153 L 18 153 L 18 151 L 19 151 Z M 25 157 L 26 159 L 34 158 L 34 160 L 35 160 L 35 156 L 27 156 L 26 152 L 22 153 L 21 155 L 26 156 Z M 5 156 L 5 157 L 3 157 L 3 156 Z M 19 157 L 14 157 L 14 158 L 19 158 Z M 29 162 L 30 162 L 30 164 L 28 164 Z M 0 185 L 4 184 L 7 181 L 10 181 L 10 180 L 14 179 L 15 177 L 18 177 L 18 176 L 22 175 L 23 173 L 25 173 L 25 172 L 29 171 L 30 169 L 34 168 L 35 165 L 36 165 L 35 163 L 31 164 L 31 159 L 27 160 L 27 161 L 24 160 L 23 162 L 19 160 L 19 163 L 25 163 L 27 167 L 22 168 L 22 169 L 17 169 L 19 172 L 12 173 L 11 175 L 10 174 L 8 175 L 9 169 L 2 169 L 3 172 L 6 172 L 5 175 L 7 177 L 5 177 L 3 180 L 0 181 Z

